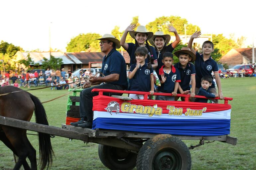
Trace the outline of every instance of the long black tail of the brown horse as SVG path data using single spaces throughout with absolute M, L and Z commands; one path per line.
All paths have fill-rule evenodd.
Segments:
M 47 121 L 47 116 L 45 113 L 45 108 L 40 102 L 40 100 L 30 94 L 30 97 L 32 101 L 35 104 L 35 117 L 36 117 L 36 123 L 43 124 L 43 125 L 49 125 Z M 47 169 L 52 166 L 53 162 L 53 148 L 51 144 L 51 138 L 49 134 L 44 133 L 38 133 L 38 140 L 39 140 L 39 160 L 40 160 L 40 166 L 41 170 Z

